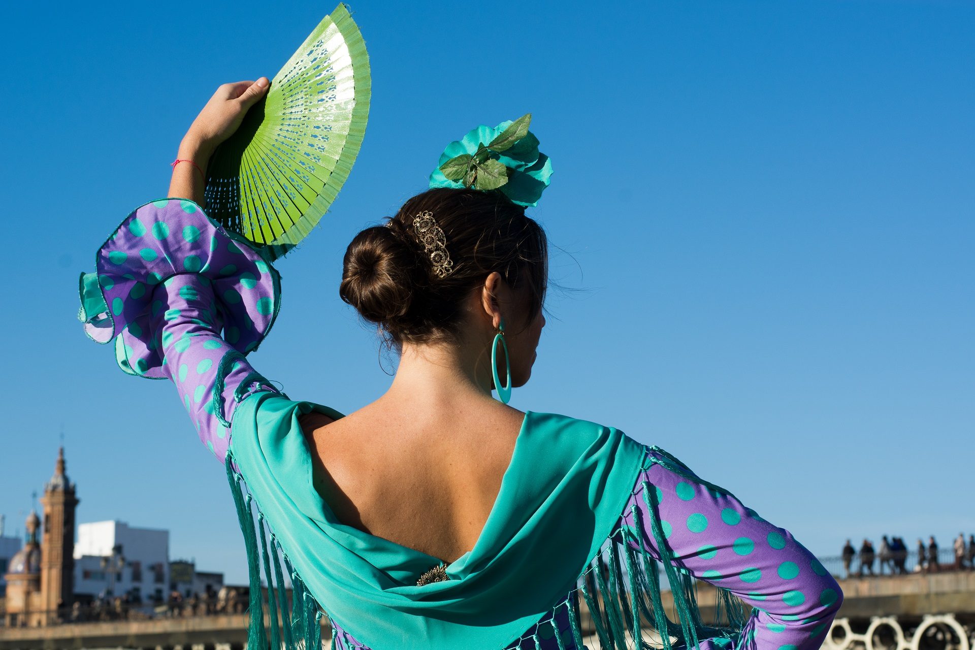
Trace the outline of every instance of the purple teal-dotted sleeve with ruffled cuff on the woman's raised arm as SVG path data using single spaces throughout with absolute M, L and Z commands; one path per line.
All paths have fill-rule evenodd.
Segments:
M 237 404 L 278 392 L 246 357 L 277 316 L 277 271 L 183 199 L 133 210 L 98 249 L 96 265 L 81 277 L 86 333 L 98 343 L 114 339 L 125 372 L 172 380 L 200 440 L 222 461 Z

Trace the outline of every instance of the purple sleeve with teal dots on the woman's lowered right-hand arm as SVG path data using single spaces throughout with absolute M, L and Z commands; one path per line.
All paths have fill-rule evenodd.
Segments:
M 626 512 L 636 506 L 649 522 L 655 507 L 674 564 L 755 608 L 738 648 L 819 648 L 842 602 L 833 576 L 788 530 L 697 478 L 666 452 L 648 453 L 654 462 L 642 472 Z M 622 523 L 632 528 L 632 517 L 624 515 Z M 643 544 L 660 559 L 646 527 Z M 701 639 L 702 648 L 726 647 L 721 644 Z

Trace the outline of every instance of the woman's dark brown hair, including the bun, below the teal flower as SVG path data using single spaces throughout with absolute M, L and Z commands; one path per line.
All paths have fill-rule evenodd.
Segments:
M 426 210 L 444 231 L 453 262 L 444 278 L 434 273 L 413 229 Z M 527 325 L 548 285 L 545 231 L 500 192 L 437 188 L 409 199 L 385 225 L 356 235 L 345 250 L 338 293 L 391 343 L 455 340 L 463 299 L 494 271 L 512 289 L 528 289 Z

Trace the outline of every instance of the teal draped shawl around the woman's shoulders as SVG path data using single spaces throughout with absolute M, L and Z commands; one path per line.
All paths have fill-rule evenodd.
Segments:
M 272 393 L 242 401 L 234 415 L 228 478 L 237 485 L 235 465 L 249 492 L 234 490 L 245 538 L 254 547 L 248 549 L 252 564 L 260 555 L 271 574 L 265 519 L 273 531 L 272 551 L 280 545 L 292 583 L 299 582 L 292 600 L 310 594 L 372 650 L 502 648 L 517 639 L 575 588 L 599 554 L 632 494 L 645 452 L 615 429 L 526 413 L 474 549 L 448 565 L 448 581 L 417 587 L 417 577 L 440 564 L 438 558 L 340 523 L 315 490 L 297 419 L 311 410 L 341 417 L 320 404 Z M 252 498 L 260 506 L 259 533 L 247 503 Z M 261 603 L 254 601 L 261 593 L 257 566 L 254 579 L 252 636 L 264 647 Z M 272 647 L 285 641 L 283 632 L 318 628 L 307 620 L 321 617 L 317 608 L 304 612 L 292 602 L 292 618 L 304 621 L 283 625 L 284 594 L 271 588 L 266 600 Z

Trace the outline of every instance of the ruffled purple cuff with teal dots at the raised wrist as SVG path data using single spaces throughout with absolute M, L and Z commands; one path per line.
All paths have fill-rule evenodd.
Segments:
M 242 355 L 256 350 L 274 325 L 281 304 L 281 276 L 261 253 L 227 232 L 186 199 L 139 206 L 98 249 L 96 273 L 80 279 L 79 320 L 98 343 L 115 339 L 116 360 L 129 374 L 168 377 L 163 369 L 172 342 L 153 339 L 150 321 L 163 307 L 154 287 L 180 274 L 197 274 L 214 287 L 214 309 L 202 317 L 222 322 L 223 338 Z M 185 288 L 185 287 L 184 287 Z M 179 318 L 167 310 L 166 320 Z

